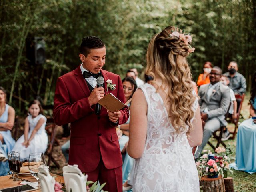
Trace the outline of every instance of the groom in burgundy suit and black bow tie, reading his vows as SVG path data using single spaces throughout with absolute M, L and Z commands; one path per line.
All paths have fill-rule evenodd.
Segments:
M 112 113 L 102 107 L 96 115 L 94 109 L 107 93 L 125 102 L 122 81 L 120 76 L 102 70 L 106 47 L 100 38 L 84 38 L 79 57 L 82 64 L 57 80 L 54 120 L 57 125 L 71 122 L 68 164 L 78 164 L 88 180 L 106 182 L 104 190 L 121 192 L 122 156 L 115 127 L 128 120 L 129 110 L 125 107 Z M 104 78 L 104 87 L 96 87 L 98 76 Z M 106 92 L 108 79 L 116 89 Z

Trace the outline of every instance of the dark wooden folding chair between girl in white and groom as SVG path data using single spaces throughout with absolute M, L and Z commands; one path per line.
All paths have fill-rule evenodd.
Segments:
M 50 163 L 51 161 L 56 165 L 56 167 L 59 169 L 60 165 L 58 164 L 58 162 L 53 158 L 52 156 L 52 151 L 53 151 L 53 147 L 54 147 L 54 143 L 56 141 L 56 128 L 57 125 L 54 123 L 54 120 L 52 118 L 47 119 L 47 124 L 46 124 L 46 132 L 50 132 L 50 142 L 48 144 L 48 148 L 45 152 L 45 155 L 48 156 L 48 162 L 47 165 L 50 167 Z

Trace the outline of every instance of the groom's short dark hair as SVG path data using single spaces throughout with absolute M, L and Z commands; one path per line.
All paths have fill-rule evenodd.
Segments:
M 87 57 L 90 54 L 90 49 L 103 48 L 105 46 L 104 42 L 95 36 L 88 36 L 82 39 L 80 46 L 80 53 Z

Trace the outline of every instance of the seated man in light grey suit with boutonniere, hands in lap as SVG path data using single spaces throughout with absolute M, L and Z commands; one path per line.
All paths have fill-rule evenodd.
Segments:
M 208 142 L 212 133 L 226 126 L 225 114 L 230 104 L 230 90 L 228 86 L 220 82 L 222 70 L 219 67 L 212 68 L 209 84 L 200 86 L 198 96 L 200 97 L 201 118 L 206 122 L 203 131 L 203 141 L 196 151 L 195 158 L 198 158 Z

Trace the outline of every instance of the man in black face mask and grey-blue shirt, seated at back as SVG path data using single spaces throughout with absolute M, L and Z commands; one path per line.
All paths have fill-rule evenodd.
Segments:
M 223 75 L 228 77 L 228 86 L 234 91 L 234 93 L 242 95 L 244 92 L 246 92 L 246 79 L 237 71 L 237 62 L 231 61 L 228 65 L 228 72 L 224 73 Z

